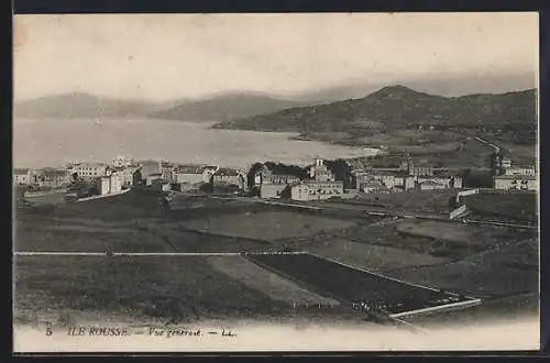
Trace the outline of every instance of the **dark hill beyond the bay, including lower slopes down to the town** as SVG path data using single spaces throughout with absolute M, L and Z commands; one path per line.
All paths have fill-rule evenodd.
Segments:
M 482 134 L 514 150 L 525 162 L 535 157 L 535 89 L 499 95 L 443 97 L 404 86 L 338 102 L 297 107 L 213 125 L 267 132 L 296 132 L 301 140 L 382 147 L 419 156 L 418 162 L 457 160 L 486 164 L 491 150 L 468 140 Z

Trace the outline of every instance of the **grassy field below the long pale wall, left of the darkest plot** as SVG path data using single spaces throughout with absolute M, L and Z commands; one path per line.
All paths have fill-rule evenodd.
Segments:
M 234 276 L 251 276 L 257 272 L 255 267 L 252 272 L 240 267 L 230 276 L 220 271 L 228 264 L 213 268 L 213 262 L 202 256 L 16 256 L 14 263 L 18 322 L 38 319 L 66 323 L 66 311 L 96 315 L 99 320 L 105 315 L 165 322 L 296 316 L 293 299 L 271 297 L 280 289 L 292 292 L 288 297 L 301 301 L 331 301 L 277 280 L 265 292 L 258 290 L 257 285 L 248 286 L 250 278 L 242 283 Z M 338 307 L 300 310 L 302 317 L 309 314 L 350 317 L 350 312 Z

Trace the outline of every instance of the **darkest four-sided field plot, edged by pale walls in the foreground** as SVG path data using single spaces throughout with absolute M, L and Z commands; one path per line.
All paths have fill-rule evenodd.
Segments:
M 439 290 L 421 288 L 353 270 L 310 254 L 250 255 L 252 261 L 351 304 L 383 307 L 391 314 L 435 307 L 450 301 Z

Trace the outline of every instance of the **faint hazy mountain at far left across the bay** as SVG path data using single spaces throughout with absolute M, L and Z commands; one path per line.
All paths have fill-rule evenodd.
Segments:
M 14 105 L 13 113 L 22 118 L 95 119 L 100 117 L 146 117 L 172 102 L 114 100 L 88 94 L 45 96 Z

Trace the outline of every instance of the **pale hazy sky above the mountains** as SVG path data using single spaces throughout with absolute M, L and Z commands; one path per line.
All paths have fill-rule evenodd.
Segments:
M 536 72 L 536 13 L 18 15 L 15 99 L 300 92 Z

